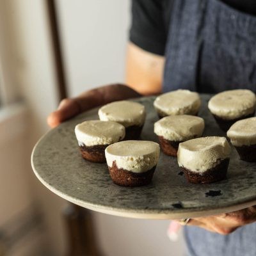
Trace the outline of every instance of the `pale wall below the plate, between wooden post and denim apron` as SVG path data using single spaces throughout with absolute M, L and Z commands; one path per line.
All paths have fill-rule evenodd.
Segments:
M 105 256 L 181 256 L 183 241 L 166 236 L 168 220 L 136 220 L 96 213 L 95 225 Z

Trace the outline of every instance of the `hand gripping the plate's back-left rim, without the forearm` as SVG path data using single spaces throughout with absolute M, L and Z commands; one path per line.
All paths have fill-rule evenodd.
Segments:
M 125 100 L 140 97 L 140 93 L 132 90 L 124 84 L 110 84 L 89 90 L 78 97 L 61 100 L 58 109 L 47 117 L 50 127 L 56 127 L 61 122 L 72 118 L 88 109 L 113 102 L 115 100 Z

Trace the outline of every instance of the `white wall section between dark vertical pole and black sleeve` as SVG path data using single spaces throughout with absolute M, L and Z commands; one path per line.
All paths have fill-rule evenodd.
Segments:
M 129 0 L 57 0 L 70 96 L 124 81 Z

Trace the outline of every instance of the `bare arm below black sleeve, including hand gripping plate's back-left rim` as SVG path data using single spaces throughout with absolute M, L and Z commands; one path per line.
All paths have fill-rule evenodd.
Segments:
M 162 69 L 163 57 L 129 44 L 126 66 L 127 85 L 109 84 L 81 93 L 75 98 L 63 99 L 58 109 L 48 116 L 47 123 L 50 127 L 56 127 L 72 116 L 115 100 L 159 93 Z

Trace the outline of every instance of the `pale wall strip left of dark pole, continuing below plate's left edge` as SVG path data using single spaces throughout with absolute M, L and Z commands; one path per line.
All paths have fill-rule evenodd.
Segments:
M 15 11 L 14 34 L 17 35 L 15 40 L 17 81 L 31 115 L 30 150 L 32 150 L 38 138 L 49 130 L 46 124 L 47 115 L 58 106 L 54 57 L 45 1 L 12 0 L 12 2 Z M 31 186 L 44 213 L 49 246 L 53 255 L 64 255 L 67 243 L 61 211 L 65 200 L 51 193 L 36 179 L 30 161 L 29 168 Z

